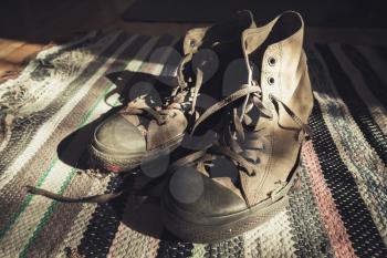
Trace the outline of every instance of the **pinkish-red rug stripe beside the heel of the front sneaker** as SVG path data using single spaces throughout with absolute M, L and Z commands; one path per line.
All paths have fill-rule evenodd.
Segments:
M 325 183 L 323 171 L 313 148 L 312 141 L 304 144 L 301 155 L 310 173 L 312 190 L 316 197 L 318 210 L 336 257 L 357 257 L 332 197 L 330 187 Z

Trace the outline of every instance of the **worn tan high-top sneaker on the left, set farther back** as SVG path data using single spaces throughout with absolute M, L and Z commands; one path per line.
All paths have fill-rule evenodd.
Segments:
M 188 31 L 185 58 L 177 70 L 178 86 L 171 96 L 157 106 L 151 95 L 140 95 L 103 122 L 90 146 L 92 161 L 107 171 L 124 172 L 177 148 L 202 113 L 197 107 L 200 94 L 215 102 L 222 97 L 220 87 L 213 87 L 221 84 L 222 68 L 232 58 L 228 49 L 240 47 L 241 33 L 248 28 L 255 28 L 252 14 L 241 11 L 229 22 Z

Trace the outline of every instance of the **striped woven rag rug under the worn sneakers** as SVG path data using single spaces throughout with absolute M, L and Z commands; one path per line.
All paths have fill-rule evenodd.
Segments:
M 44 50 L 0 85 L 11 124 L 0 131 L 0 257 L 387 257 L 384 47 L 306 47 L 315 100 L 300 184 L 284 211 L 239 237 L 176 239 L 157 202 L 139 210 L 133 197 L 96 205 L 28 195 L 24 185 L 85 196 L 133 184 L 85 172 L 86 146 L 138 74 L 170 73 L 169 58 L 151 59 L 168 47 L 179 39 L 95 32 Z

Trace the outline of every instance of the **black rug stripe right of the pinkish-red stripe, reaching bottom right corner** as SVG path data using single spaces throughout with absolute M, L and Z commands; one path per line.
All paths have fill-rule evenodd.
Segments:
M 358 192 L 355 179 L 339 158 L 338 149 L 324 124 L 321 107 L 314 102 L 310 123 L 312 142 L 324 178 L 335 200 L 358 257 L 387 257 L 387 248 Z

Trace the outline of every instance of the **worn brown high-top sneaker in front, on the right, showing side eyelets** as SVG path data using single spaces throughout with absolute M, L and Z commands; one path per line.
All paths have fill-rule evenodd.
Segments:
M 301 16 L 289 11 L 242 33 L 245 83 L 207 111 L 224 110 L 218 143 L 169 167 L 163 216 L 178 237 L 223 240 L 285 207 L 313 106 Z

